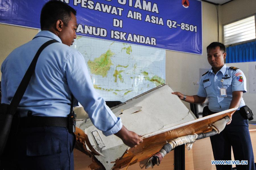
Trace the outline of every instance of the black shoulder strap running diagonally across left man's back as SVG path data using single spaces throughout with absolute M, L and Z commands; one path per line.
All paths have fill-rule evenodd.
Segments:
M 44 43 L 39 49 L 38 51 L 36 52 L 36 55 L 34 57 L 34 59 L 32 60 L 32 62 L 30 63 L 29 67 L 28 67 L 28 70 L 26 71 L 26 74 L 24 75 L 24 77 L 22 78 L 21 82 L 20 82 L 20 85 L 18 86 L 18 89 L 16 90 L 14 96 L 13 96 L 13 99 L 11 101 L 11 104 L 10 104 L 10 112 L 12 115 L 15 114 L 16 112 L 16 109 L 20 103 L 20 100 L 22 99 L 22 96 L 24 95 L 25 91 L 26 91 L 26 88 L 28 86 L 28 83 L 31 79 L 31 76 L 32 74 L 34 73 L 35 71 L 35 68 L 36 68 L 36 62 L 38 60 L 38 57 L 40 55 L 40 53 L 43 51 L 43 49 L 45 47 L 47 47 L 48 45 L 52 44 L 52 43 L 55 43 L 55 42 L 58 42 L 57 40 L 49 40 L 48 42 Z

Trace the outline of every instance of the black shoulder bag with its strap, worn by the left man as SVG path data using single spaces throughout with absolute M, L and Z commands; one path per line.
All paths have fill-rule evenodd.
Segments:
M 45 47 L 55 42 L 58 42 L 58 41 L 54 39 L 49 40 L 38 49 L 34 59 L 32 60 L 32 62 L 28 67 L 28 70 L 26 71 L 24 77 L 21 80 L 20 85 L 18 86 L 18 89 L 16 90 L 11 103 L 10 104 L 1 103 L 0 105 L 0 156 L 2 156 L 3 151 L 5 149 L 5 144 L 8 140 L 8 136 L 9 136 L 12 121 L 13 121 L 13 116 L 15 115 L 16 109 L 20 103 L 20 100 L 22 99 L 22 96 L 26 91 L 26 88 L 31 79 L 31 76 L 35 71 L 38 57 Z

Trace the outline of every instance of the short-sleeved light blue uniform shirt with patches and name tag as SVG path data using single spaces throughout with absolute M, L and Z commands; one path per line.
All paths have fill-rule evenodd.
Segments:
M 226 88 L 227 97 L 221 97 L 220 88 Z M 220 112 L 229 108 L 232 100 L 232 92 L 234 91 L 246 92 L 245 75 L 240 69 L 234 70 L 224 64 L 216 74 L 211 69 L 202 76 L 199 82 L 197 96 L 208 97 L 210 111 Z M 238 110 L 244 105 L 245 103 L 242 98 Z

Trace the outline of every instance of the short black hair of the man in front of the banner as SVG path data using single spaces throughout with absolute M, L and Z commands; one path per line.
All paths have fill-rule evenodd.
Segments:
M 41 11 L 41 30 L 50 28 L 57 20 L 61 20 L 67 26 L 71 20 L 71 13 L 76 15 L 77 11 L 66 3 L 57 0 L 48 1 Z

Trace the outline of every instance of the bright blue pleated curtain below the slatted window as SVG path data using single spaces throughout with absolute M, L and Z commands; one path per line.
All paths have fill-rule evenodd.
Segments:
M 227 47 L 226 63 L 256 61 L 256 41 Z

